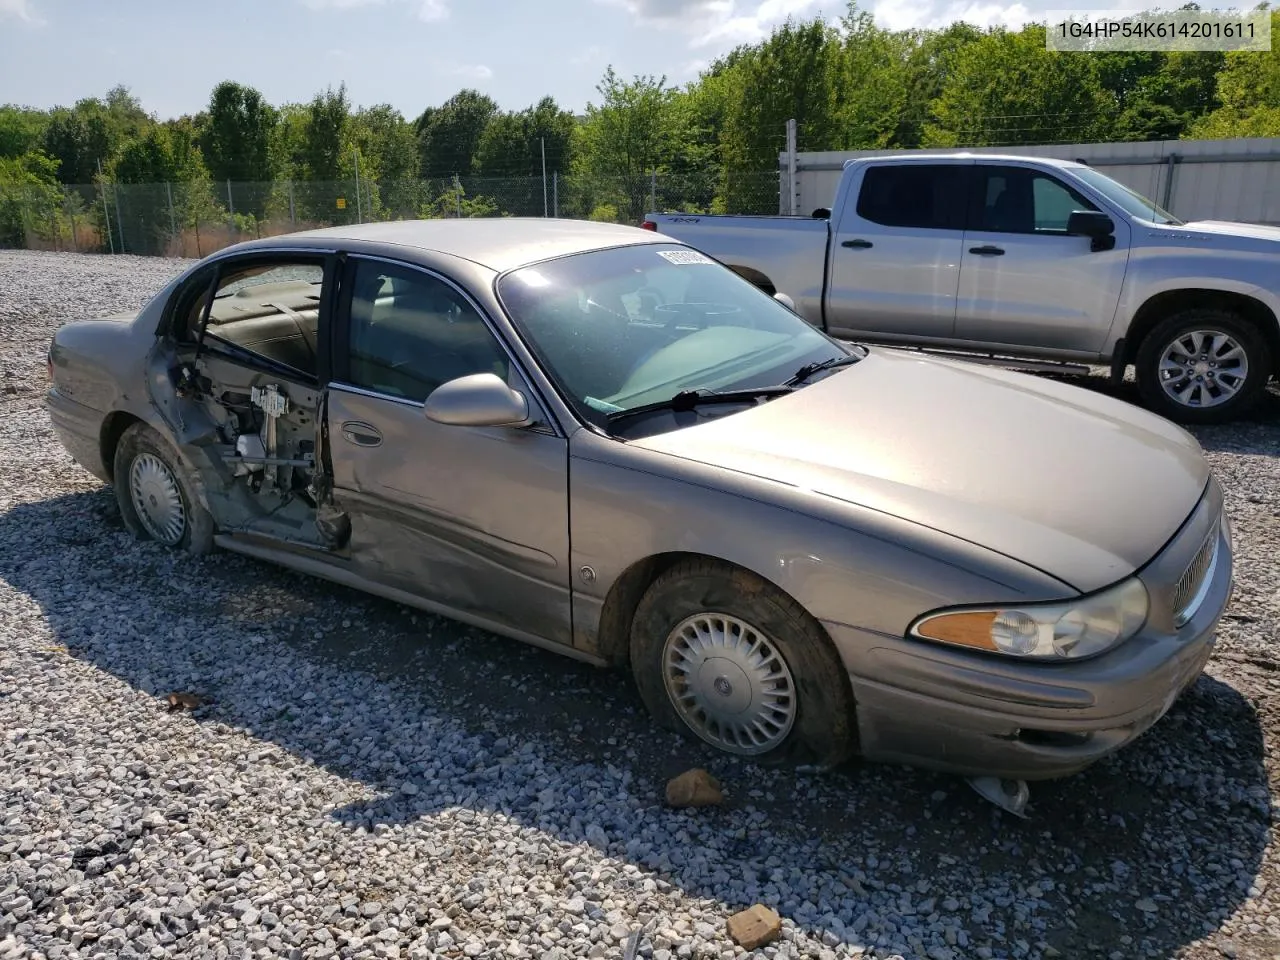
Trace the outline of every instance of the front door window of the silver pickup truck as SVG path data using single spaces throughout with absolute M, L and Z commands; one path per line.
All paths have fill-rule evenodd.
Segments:
M 978 165 L 970 229 L 984 233 L 1065 234 L 1075 210 L 1097 210 L 1055 177 L 1025 166 Z

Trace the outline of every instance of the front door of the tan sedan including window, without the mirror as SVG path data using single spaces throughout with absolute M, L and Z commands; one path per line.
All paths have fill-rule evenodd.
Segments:
M 480 307 L 448 278 L 349 256 L 326 401 L 333 495 L 361 575 L 474 620 L 571 644 L 567 442 Z M 449 426 L 424 401 L 494 372 L 529 428 Z

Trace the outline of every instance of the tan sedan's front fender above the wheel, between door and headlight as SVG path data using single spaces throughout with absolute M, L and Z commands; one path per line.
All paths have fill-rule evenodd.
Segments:
M 591 653 L 614 584 L 663 554 L 733 563 L 819 621 L 891 635 L 948 604 L 1074 595 L 929 527 L 588 431 L 570 442 L 570 545 L 575 644 Z

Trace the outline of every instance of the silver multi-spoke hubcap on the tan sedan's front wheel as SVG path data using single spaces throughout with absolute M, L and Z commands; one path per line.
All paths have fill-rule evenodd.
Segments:
M 680 718 L 728 753 L 755 755 L 786 740 L 796 689 L 777 646 L 723 613 L 686 617 L 663 645 L 663 680 Z

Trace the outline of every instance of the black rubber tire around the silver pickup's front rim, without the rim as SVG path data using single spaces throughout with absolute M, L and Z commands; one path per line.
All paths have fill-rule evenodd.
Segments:
M 1179 403 L 1161 384 L 1160 361 L 1165 351 L 1180 337 L 1198 330 L 1226 334 L 1248 361 L 1248 372 L 1235 396 L 1216 406 Z M 1224 424 L 1244 416 L 1262 398 L 1272 372 L 1271 351 L 1262 332 L 1239 314 L 1219 307 L 1192 307 L 1156 324 L 1139 344 L 1134 367 L 1147 408 L 1180 424 Z

